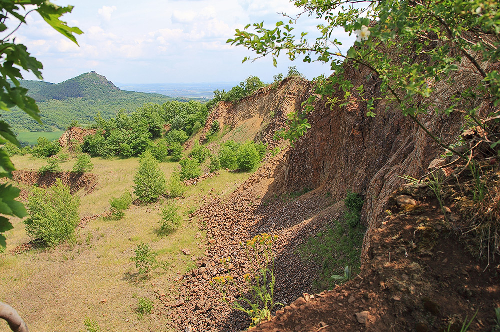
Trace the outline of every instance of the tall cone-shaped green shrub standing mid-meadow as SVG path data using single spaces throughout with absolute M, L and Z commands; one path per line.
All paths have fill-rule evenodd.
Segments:
M 149 150 L 142 154 L 139 162 L 133 177 L 133 192 L 143 202 L 156 201 L 166 190 L 165 174 Z

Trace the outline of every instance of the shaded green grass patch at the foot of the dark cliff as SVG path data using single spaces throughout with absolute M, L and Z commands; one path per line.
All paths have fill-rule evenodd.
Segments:
M 351 267 L 352 276 L 360 271 L 361 246 L 366 229 L 359 224 L 350 227 L 347 218 L 348 213 L 343 220 L 336 220 L 333 227 L 312 236 L 298 248 L 303 261 L 313 260 L 321 264 L 319 279 L 314 282 L 318 291 L 332 289 L 338 281 L 331 276 L 343 275 L 347 265 Z M 356 218 L 359 216 L 356 215 Z

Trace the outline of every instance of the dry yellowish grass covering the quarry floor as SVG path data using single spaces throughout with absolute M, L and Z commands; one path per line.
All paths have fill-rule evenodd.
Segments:
M 13 158 L 19 169 L 37 169 L 43 160 Z M 63 163 L 70 170 L 74 160 Z M 132 191 L 136 158 L 105 160 L 92 158 L 93 173 L 99 176 L 96 189 L 81 196 L 80 216 L 90 216 L 109 209 L 111 196 L 123 190 Z M 167 176 L 178 163 L 161 163 Z M 202 256 L 205 250 L 203 232 L 195 222 L 187 221 L 193 211 L 214 195 L 234 191 L 248 178 L 245 173 L 221 172 L 188 188 L 185 198 L 174 199 L 184 221 L 179 229 L 166 237 L 157 235 L 160 210 L 165 202 L 132 206 L 122 220 L 100 218 L 77 230 L 76 243 L 55 249 L 38 249 L 17 256 L 0 254 L 0 301 L 9 303 L 38 332 L 80 331 L 86 317 L 98 322 L 102 331 L 168 331 L 166 315 L 160 314 L 156 293 L 172 297 L 176 294 L 173 279 L 193 267 L 191 257 Z M 14 229 L 6 233 L 8 252 L 30 240 L 22 220 L 12 218 Z M 201 233 L 202 237 L 196 237 Z M 135 277 L 130 261 L 133 249 L 140 242 L 149 243 L 159 261 L 168 262 L 158 268 L 149 280 Z M 181 249 L 189 249 L 184 255 Z M 157 308 L 151 317 L 138 319 L 134 312 L 139 297 L 154 300 Z M 105 301 L 103 301 L 105 300 Z M 0 331 L 9 331 L 0 322 Z

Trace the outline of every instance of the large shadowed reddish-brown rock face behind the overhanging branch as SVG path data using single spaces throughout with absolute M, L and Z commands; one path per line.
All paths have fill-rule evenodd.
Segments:
M 362 221 L 372 229 L 380 223 L 386 198 L 404 183 L 398 176 L 422 176 L 442 148 L 396 106 L 386 110 L 384 101 L 375 105 L 376 117 L 367 117 L 366 103 L 356 101 L 355 88 L 363 84 L 365 98 L 379 97 L 380 80 L 368 76 L 368 70 L 348 67 L 346 71 L 354 85 L 354 103 L 330 107 L 323 99 L 315 105 L 308 116 L 312 128 L 289 150 L 274 190 L 283 193 L 324 185 L 336 200 L 343 199 L 347 190 L 360 193 L 365 199 Z M 437 89 L 443 100 L 451 93 L 444 83 Z M 343 92 L 332 97 L 342 98 Z M 458 136 L 460 119 L 458 114 L 419 118 L 447 142 Z

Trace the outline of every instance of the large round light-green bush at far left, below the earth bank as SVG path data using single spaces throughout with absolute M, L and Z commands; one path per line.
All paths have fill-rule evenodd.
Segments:
M 27 203 L 29 218 L 24 221 L 26 233 L 47 246 L 70 239 L 80 221 L 79 205 L 79 197 L 72 196 L 60 179 L 48 189 L 33 188 Z

